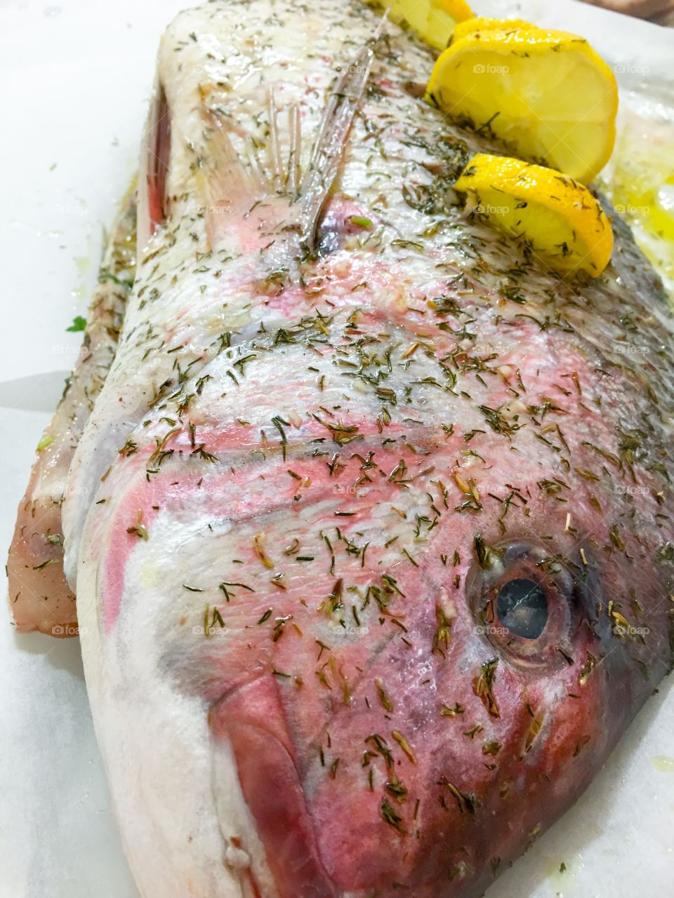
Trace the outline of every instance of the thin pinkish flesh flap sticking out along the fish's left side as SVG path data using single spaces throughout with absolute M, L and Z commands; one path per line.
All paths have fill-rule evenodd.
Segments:
M 76 636 L 75 594 L 63 572 L 61 506 L 75 446 L 110 368 L 136 264 L 136 193 L 129 190 L 103 253 L 84 340 L 54 417 L 40 441 L 19 504 L 7 559 L 16 629 Z

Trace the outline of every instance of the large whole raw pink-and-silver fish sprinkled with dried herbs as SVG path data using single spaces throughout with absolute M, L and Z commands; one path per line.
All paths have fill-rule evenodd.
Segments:
M 489 144 L 378 22 L 228 0 L 161 43 L 64 509 L 145 896 L 482 894 L 671 667 L 658 278 L 617 218 L 590 281 L 468 216 Z

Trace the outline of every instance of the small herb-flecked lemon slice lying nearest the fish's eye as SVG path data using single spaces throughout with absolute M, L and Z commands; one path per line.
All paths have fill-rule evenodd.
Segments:
M 590 190 L 542 165 L 478 153 L 455 189 L 472 211 L 519 238 L 554 271 L 598 277 L 613 251 L 613 231 Z

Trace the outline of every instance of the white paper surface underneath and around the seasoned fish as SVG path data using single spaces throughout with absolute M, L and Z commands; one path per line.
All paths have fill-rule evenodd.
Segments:
M 84 313 L 102 227 L 134 171 L 157 40 L 188 2 L 0 0 L 3 551 L 61 377 L 3 384 L 72 363 L 80 335 L 65 328 Z M 618 77 L 626 87 L 638 83 L 654 108 L 671 108 L 673 32 L 560 0 L 491 0 L 480 12 L 520 7 L 589 37 L 625 67 Z M 78 645 L 17 638 L 7 621 L 0 613 L 0 898 L 136 898 L 111 820 Z M 648 702 L 581 802 L 488 898 L 634 898 L 644 888 L 674 895 L 669 686 Z

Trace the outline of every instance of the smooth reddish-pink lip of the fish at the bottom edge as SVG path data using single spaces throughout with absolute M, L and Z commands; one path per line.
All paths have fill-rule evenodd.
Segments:
M 209 722 L 214 739 L 234 756 L 262 842 L 268 875 L 251 871 L 255 892 L 270 898 L 261 883 L 271 877 L 278 898 L 347 898 L 320 857 L 276 683 L 260 677 L 228 692 L 211 707 Z

